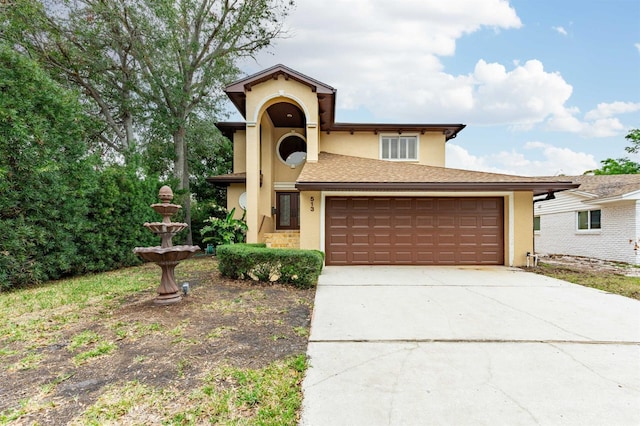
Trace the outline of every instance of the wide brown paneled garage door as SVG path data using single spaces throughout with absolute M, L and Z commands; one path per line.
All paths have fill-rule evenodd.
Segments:
M 502 198 L 328 197 L 329 265 L 502 265 Z

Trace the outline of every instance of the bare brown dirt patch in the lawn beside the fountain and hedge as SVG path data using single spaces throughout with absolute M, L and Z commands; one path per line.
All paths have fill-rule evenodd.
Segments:
M 144 267 L 159 274 L 153 264 Z M 190 276 L 176 270 L 176 281 L 188 281 L 191 287 L 181 303 L 157 306 L 149 291 L 112 311 L 83 310 L 83 318 L 37 348 L 37 365 L 2 371 L 0 412 L 27 399 L 34 404 L 35 399 L 41 408 L 13 424 L 62 425 L 92 405 L 110 384 L 135 380 L 188 392 L 213 366 L 261 368 L 305 353 L 314 289 L 228 280 L 215 265 L 200 269 Z M 70 345 L 86 331 L 114 342 L 117 350 L 79 364 Z M 15 349 L 15 359 L 4 357 L 5 366 L 24 354 L 25 348 Z M 47 386 L 53 390 L 43 391 Z

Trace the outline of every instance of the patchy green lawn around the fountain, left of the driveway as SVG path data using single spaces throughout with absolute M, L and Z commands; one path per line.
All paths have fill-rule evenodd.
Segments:
M 215 303 L 208 300 L 210 295 L 207 294 L 207 303 L 201 303 L 198 294 L 211 291 L 207 289 L 214 285 L 229 291 L 226 288 L 234 284 L 212 282 L 215 281 L 211 272 L 214 266 L 210 259 L 183 262 L 179 266 L 180 274 L 198 276 L 199 289 L 185 299 L 189 305 L 183 301 L 182 307 L 174 305 L 175 309 L 148 307 L 148 312 L 157 315 L 154 318 L 141 316 L 131 309 L 132 305 L 152 305 L 160 270 L 149 264 L 0 293 L 0 369 L 3 377 L 0 386 L 19 389 L 22 394 L 19 400 L 0 401 L 0 424 L 46 424 L 46 419 L 51 418 L 60 422 L 56 410 L 64 411 L 69 407 L 75 411 L 61 411 L 60 415 L 66 416 L 62 417 L 62 423 L 297 424 L 302 403 L 301 382 L 307 367 L 304 351 L 297 355 L 274 356 L 271 361 L 264 357 L 255 362 L 250 358 L 242 359 L 241 364 L 259 365 L 255 368 L 233 365 L 223 355 L 197 357 L 214 347 L 212 342 L 247 332 L 243 330 L 243 322 L 220 326 L 215 324 L 216 319 L 243 315 L 252 321 L 244 323 L 248 328 L 268 321 L 260 315 L 275 315 L 277 322 L 274 324 L 281 324 L 280 317 L 287 313 L 282 309 L 270 314 L 268 306 L 273 300 L 269 295 L 275 290 L 261 287 L 251 290 L 239 287 L 236 291 L 240 293 L 230 293 L 228 301 L 215 300 Z M 286 291 L 294 301 L 296 297 L 302 297 L 302 293 L 296 293 L 298 290 Z M 312 294 L 312 291 L 305 294 Z M 281 295 L 273 297 L 282 300 Z M 259 305 L 254 308 L 249 303 Z M 301 306 L 302 301 L 293 303 Z M 243 309 L 230 312 L 219 309 L 218 305 Z M 163 312 L 181 312 L 184 318 L 177 320 Z M 201 327 L 197 333 L 194 331 L 192 322 L 206 326 L 209 321 L 209 329 Z M 290 335 L 282 333 L 282 341 L 268 336 L 263 340 L 267 345 L 278 345 L 295 338 L 291 336 L 300 336 L 306 345 L 307 329 L 290 328 Z M 133 370 L 137 369 L 136 377 L 156 375 L 158 360 L 151 358 L 157 350 L 149 351 L 148 347 L 159 339 L 167 342 L 167 352 L 158 356 L 164 361 L 172 358 L 166 368 L 172 376 L 166 382 L 158 385 L 123 374 L 122 378 L 105 383 L 97 395 L 86 401 L 82 400 L 85 396 L 82 393 L 68 396 L 60 391 L 61 386 L 85 381 L 83 377 L 97 375 L 100 369 L 128 366 L 129 371 L 133 365 Z M 234 339 L 228 340 L 229 345 Z M 62 349 L 53 351 L 51 348 L 56 345 Z M 223 349 L 234 348 L 223 346 Z M 60 357 L 65 359 L 60 361 Z M 146 368 L 155 370 L 145 371 Z

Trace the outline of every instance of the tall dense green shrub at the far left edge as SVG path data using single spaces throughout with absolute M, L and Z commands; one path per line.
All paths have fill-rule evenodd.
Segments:
M 77 273 L 94 186 L 77 96 L 0 45 L 0 291 Z

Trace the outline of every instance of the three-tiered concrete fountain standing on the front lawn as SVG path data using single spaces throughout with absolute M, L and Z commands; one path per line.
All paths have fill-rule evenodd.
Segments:
M 145 228 L 156 235 L 159 235 L 162 242 L 160 247 L 136 247 L 133 252 L 144 260 L 155 262 L 162 268 L 160 287 L 158 287 L 158 297 L 155 303 L 169 305 L 182 300 L 180 290 L 176 285 L 175 268 L 180 261 L 193 256 L 200 250 L 198 246 L 174 246 L 171 239 L 178 232 L 187 228 L 186 223 L 171 222 L 170 217 L 182 208 L 177 204 L 171 204 L 173 191 L 168 186 L 160 188 L 158 197 L 162 203 L 151 204 L 151 208 L 162 215 L 162 222 L 145 223 Z

